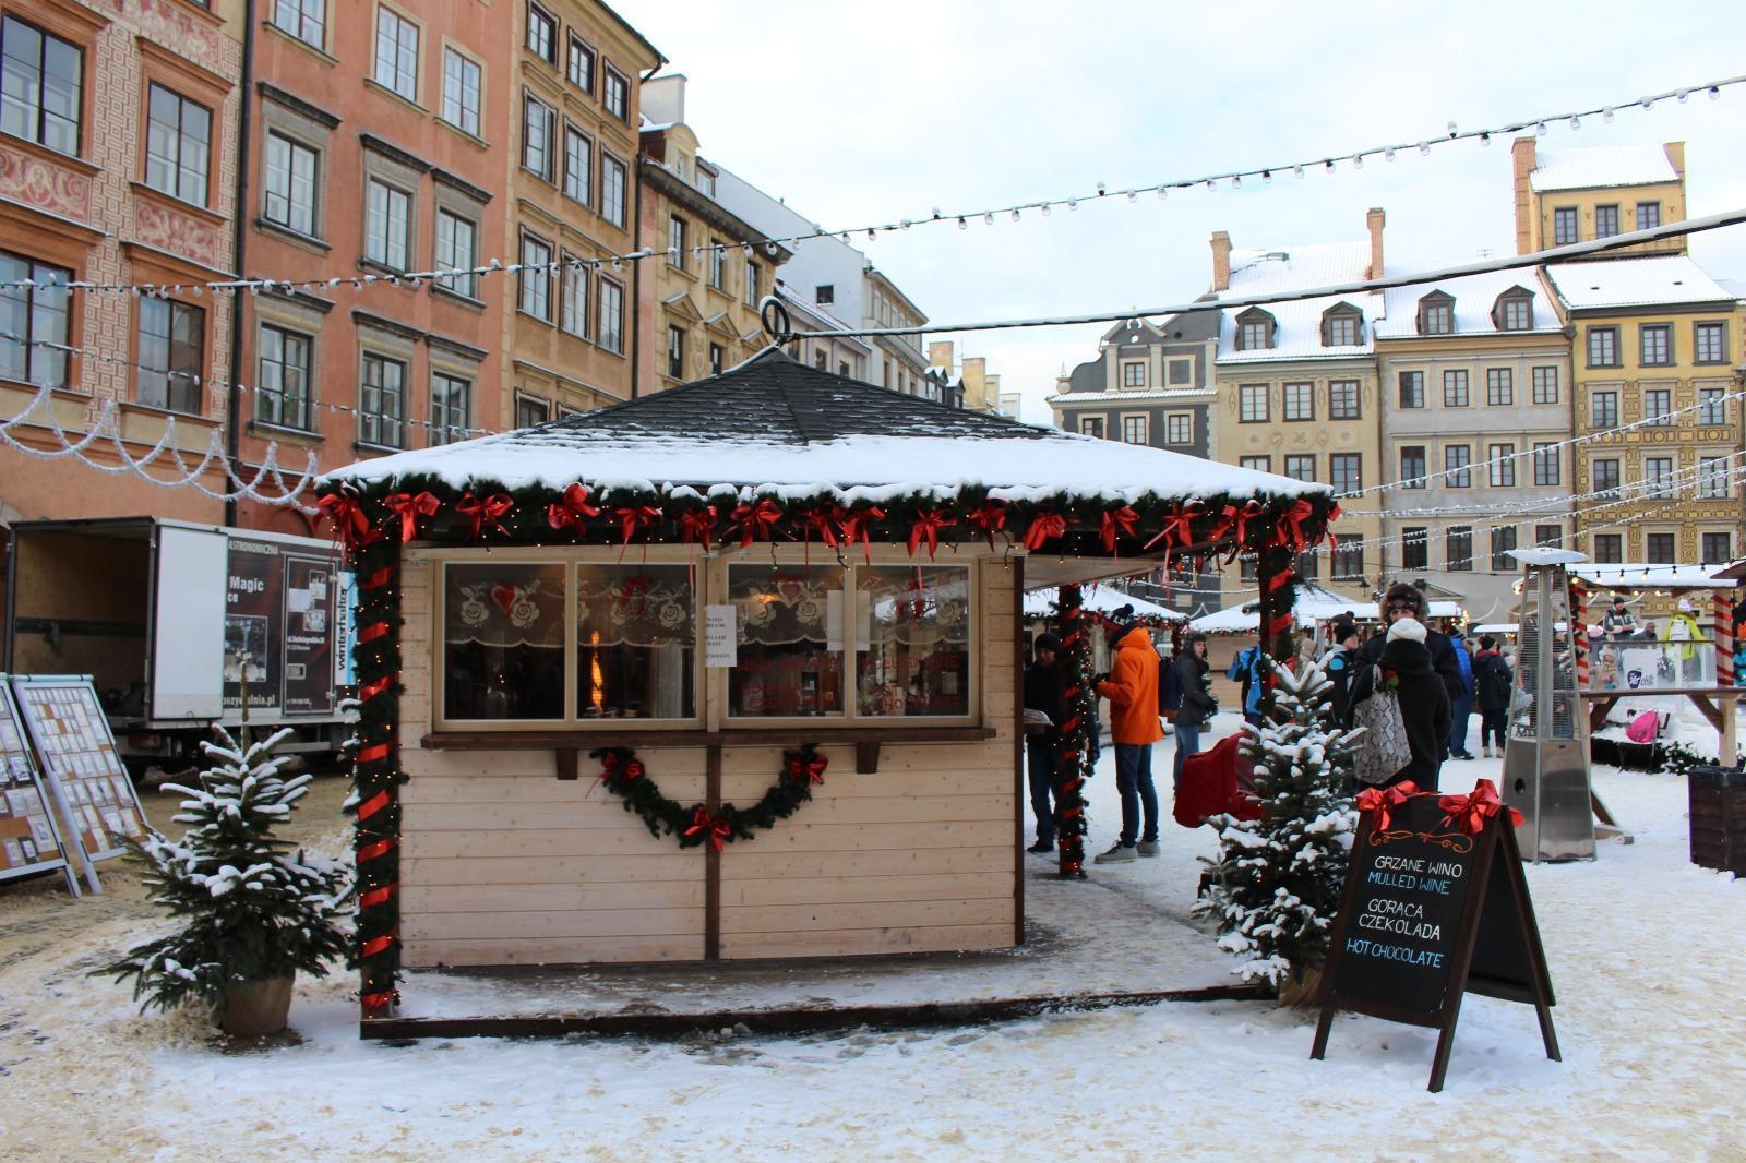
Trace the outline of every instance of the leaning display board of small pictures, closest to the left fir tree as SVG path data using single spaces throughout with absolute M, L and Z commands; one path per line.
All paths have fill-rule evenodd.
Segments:
M 126 852 L 122 836 L 143 840 L 147 822 L 91 676 L 14 674 L 12 697 L 61 814 L 68 857 L 84 868 L 91 891 L 101 892 L 96 863 Z

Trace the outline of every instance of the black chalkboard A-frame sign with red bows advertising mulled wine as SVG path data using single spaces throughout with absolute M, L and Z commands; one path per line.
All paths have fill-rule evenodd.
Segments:
M 1547 1058 L 1561 1060 L 1516 828 L 1502 805 L 1489 815 L 1472 807 L 1496 803 L 1489 781 L 1479 784 L 1472 798 L 1393 796 L 1364 812 L 1322 969 L 1311 1058 L 1325 1053 L 1337 1009 L 1433 1027 L 1430 1090 L 1439 1091 L 1461 995 L 1474 992 L 1533 1006 Z

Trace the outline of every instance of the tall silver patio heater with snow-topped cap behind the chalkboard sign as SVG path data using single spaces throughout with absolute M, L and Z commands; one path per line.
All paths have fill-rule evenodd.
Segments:
M 1587 557 L 1561 548 L 1509 554 L 1526 573 L 1503 800 L 1523 814 L 1516 838 L 1526 859 L 1592 861 L 1589 725 L 1577 681 L 1587 632 L 1571 609 L 1566 571 Z

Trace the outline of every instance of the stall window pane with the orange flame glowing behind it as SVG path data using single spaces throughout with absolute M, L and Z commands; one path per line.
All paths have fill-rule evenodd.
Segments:
M 576 568 L 576 716 L 697 716 L 697 590 L 686 566 Z

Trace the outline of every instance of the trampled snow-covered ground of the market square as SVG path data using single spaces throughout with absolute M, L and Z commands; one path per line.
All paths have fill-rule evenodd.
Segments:
M 1163 788 L 1168 760 L 1163 744 Z M 1498 767 L 1453 763 L 1444 786 Z M 300 983 L 300 1044 L 222 1053 L 197 1016 L 138 1018 L 124 988 L 82 974 L 147 931 L 122 892 L 75 906 L 0 889 L 0 1158 L 1746 1158 L 1746 884 L 1687 863 L 1680 779 L 1601 770 L 1596 784 L 1636 843 L 1528 873 L 1564 1062 L 1542 1056 L 1529 1008 L 1468 997 L 1440 1095 L 1423 1090 L 1433 1032 L 1343 1018 L 1316 1063 L 1310 1018 L 1255 1002 L 831 1037 L 388 1046 L 358 1041 L 340 978 Z M 1091 805 L 1102 849 L 1117 822 L 1107 772 Z M 1037 957 L 1037 971 L 1137 974 L 1159 946 L 1177 950 L 1172 974 L 1217 969 L 1191 952 L 1212 939 L 1184 926 L 1210 836 L 1166 822 L 1165 845 L 1084 885 L 1034 882 L 1032 910 L 1079 917 L 1062 939 L 1083 945 L 1083 960 Z M 68 932 L 58 917 L 82 908 Z M 920 980 L 845 980 L 934 997 Z

